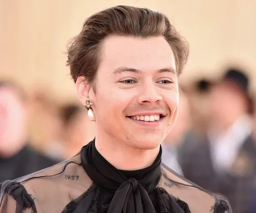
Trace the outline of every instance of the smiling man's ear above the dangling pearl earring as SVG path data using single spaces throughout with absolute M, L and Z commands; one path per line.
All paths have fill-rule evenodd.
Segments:
M 80 99 L 80 102 L 82 104 L 85 104 L 86 100 L 89 97 L 90 85 L 88 84 L 84 76 L 79 76 L 76 79 L 75 86 L 76 86 L 76 91 L 78 94 L 78 98 Z

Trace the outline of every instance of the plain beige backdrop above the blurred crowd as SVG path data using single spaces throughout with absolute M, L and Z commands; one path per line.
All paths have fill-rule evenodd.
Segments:
M 247 68 L 255 81 L 255 0 L 1 0 L 0 77 L 17 79 L 28 92 L 35 86 L 47 89 L 57 102 L 76 100 L 65 66 L 67 40 L 86 17 L 120 4 L 165 13 L 188 39 L 186 84 L 199 76 L 216 77 L 227 64 Z

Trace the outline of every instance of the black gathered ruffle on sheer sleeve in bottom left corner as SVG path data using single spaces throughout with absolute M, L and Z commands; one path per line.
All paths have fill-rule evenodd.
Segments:
M 1 202 L 0 206 L 2 204 L 2 201 L 4 199 L 4 195 L 11 195 L 17 202 L 17 208 L 16 212 L 22 212 L 23 210 L 26 210 L 27 208 L 32 208 L 34 213 L 37 213 L 35 202 L 31 195 L 29 195 L 23 185 L 21 185 L 19 182 L 6 180 L 0 185 L 1 189 Z

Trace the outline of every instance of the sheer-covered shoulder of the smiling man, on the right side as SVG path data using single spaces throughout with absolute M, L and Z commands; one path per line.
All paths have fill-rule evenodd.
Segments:
M 162 164 L 162 177 L 159 187 L 164 188 L 170 195 L 179 198 L 189 205 L 191 212 L 231 213 L 229 202 L 210 194 L 200 186 L 185 179 Z

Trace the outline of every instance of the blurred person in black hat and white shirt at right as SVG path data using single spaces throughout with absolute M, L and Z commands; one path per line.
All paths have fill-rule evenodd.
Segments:
M 256 174 L 248 90 L 248 76 L 234 68 L 212 84 L 206 139 L 183 150 L 181 160 L 184 177 L 227 197 L 235 213 L 250 212 Z

